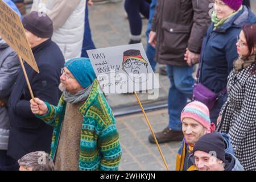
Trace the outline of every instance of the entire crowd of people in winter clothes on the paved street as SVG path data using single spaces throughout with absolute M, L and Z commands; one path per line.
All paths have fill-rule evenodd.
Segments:
M 24 1 L 3 1 L 19 14 L 40 73 L 24 63 L 31 98 L 18 55 L 0 37 L 0 170 L 118 170 L 115 118 L 86 50 L 95 48 L 88 5 L 120 1 L 34 0 L 30 13 Z M 166 65 L 169 123 L 155 136 L 182 141 L 177 171 L 256 170 L 256 16 L 249 2 L 125 0 L 129 44 L 141 42 L 142 14 L 151 67 Z M 148 140 L 155 143 L 152 134 Z

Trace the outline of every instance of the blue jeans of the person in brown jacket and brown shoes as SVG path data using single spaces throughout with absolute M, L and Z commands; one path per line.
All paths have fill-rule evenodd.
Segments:
M 167 65 L 166 71 L 171 81 L 168 96 L 169 127 L 172 130 L 181 131 L 180 114 L 187 105 L 187 98 L 192 99 L 195 84 L 195 79 L 192 77 L 193 67 Z

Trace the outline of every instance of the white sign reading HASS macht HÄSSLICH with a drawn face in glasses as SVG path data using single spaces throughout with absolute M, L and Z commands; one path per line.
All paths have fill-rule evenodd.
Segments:
M 159 88 L 142 44 L 93 49 L 87 53 L 105 94 Z

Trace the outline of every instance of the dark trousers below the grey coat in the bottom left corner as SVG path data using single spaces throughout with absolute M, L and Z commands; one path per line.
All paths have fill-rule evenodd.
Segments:
M 8 156 L 6 152 L 6 150 L 0 150 L 0 171 L 18 171 L 17 160 Z

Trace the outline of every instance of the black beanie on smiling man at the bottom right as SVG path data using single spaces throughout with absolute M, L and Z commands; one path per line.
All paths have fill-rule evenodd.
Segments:
M 225 141 L 222 135 L 218 132 L 205 134 L 196 142 L 193 147 L 193 152 L 199 150 L 207 152 L 208 154 L 213 151 L 216 152 L 216 157 L 225 162 Z

